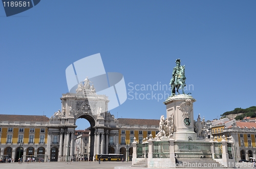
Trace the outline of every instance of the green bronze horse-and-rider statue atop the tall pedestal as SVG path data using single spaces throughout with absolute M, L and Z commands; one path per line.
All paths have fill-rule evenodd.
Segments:
M 169 83 L 169 85 L 172 86 L 172 96 L 175 95 L 175 89 L 176 89 L 177 93 L 180 94 L 179 93 L 180 87 L 182 89 L 182 94 L 184 94 L 183 88 L 186 86 L 185 80 L 186 80 L 185 65 L 180 66 L 180 59 L 177 59 L 176 67 L 174 67 L 172 79 L 170 79 L 170 83 Z

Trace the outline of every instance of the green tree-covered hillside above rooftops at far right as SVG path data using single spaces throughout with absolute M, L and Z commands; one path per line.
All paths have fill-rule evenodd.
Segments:
M 251 117 L 255 118 L 256 117 L 256 106 L 251 106 L 249 108 L 235 108 L 232 111 L 226 111 L 224 114 L 222 114 L 222 117 L 225 117 L 230 114 L 242 114 L 238 115 L 235 119 L 236 120 L 242 120 L 244 117 Z

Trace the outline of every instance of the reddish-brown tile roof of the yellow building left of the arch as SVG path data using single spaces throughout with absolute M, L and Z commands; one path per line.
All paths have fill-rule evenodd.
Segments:
M 33 116 L 33 115 L 0 115 L 0 121 L 49 122 L 49 118 L 46 116 Z

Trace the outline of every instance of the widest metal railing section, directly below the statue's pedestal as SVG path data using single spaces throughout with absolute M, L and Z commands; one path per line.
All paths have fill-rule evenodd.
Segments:
M 175 142 L 177 158 L 212 158 L 210 143 Z

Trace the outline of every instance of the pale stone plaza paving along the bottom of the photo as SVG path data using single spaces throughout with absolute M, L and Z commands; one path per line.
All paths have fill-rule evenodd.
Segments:
M 239 166 L 239 167 L 238 167 Z M 18 164 L 18 162 L 14 163 L 0 163 L 1 169 L 12 169 L 12 168 L 18 168 L 18 169 L 48 169 L 48 168 L 54 168 L 54 169 L 80 169 L 80 168 L 90 168 L 90 169 L 125 169 L 125 168 L 132 168 L 132 169 L 141 169 L 145 167 L 133 167 L 132 162 L 103 162 L 101 161 L 101 164 L 99 164 L 98 161 L 96 162 L 23 162 L 22 164 Z M 151 168 L 151 167 L 148 167 Z M 181 168 L 181 167 L 179 167 Z M 200 168 L 200 167 L 183 167 L 183 168 Z M 201 168 L 214 168 L 214 167 L 201 167 Z M 218 167 L 220 168 L 220 167 Z M 253 168 L 252 163 L 237 163 L 236 168 L 241 169 L 247 169 L 247 168 Z

